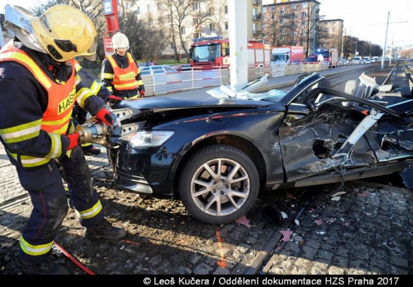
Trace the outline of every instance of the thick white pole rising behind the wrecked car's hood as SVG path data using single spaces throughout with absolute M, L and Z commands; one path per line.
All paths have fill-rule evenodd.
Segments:
M 248 83 L 247 22 L 247 0 L 228 0 L 229 70 L 232 88 L 241 88 Z

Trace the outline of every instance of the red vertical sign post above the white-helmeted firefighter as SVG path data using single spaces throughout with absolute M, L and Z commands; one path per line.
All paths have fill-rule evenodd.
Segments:
M 113 54 L 112 35 L 119 31 L 117 0 L 103 0 L 103 14 L 106 17 L 106 33 L 103 35 L 104 53 Z

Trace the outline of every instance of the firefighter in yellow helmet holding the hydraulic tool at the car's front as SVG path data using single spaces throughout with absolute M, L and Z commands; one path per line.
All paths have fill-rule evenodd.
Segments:
M 126 235 L 103 218 L 71 122 L 75 102 L 105 124 L 113 122 L 104 101 L 81 83 L 74 68 L 73 57 L 96 52 L 97 33 L 83 12 L 68 5 L 53 6 L 40 17 L 6 5 L 4 26 L 14 39 L 0 51 L 0 141 L 34 205 L 19 257 L 25 273 L 62 273 L 50 256 L 68 211 L 56 160 L 70 178 L 70 203 L 86 238 Z

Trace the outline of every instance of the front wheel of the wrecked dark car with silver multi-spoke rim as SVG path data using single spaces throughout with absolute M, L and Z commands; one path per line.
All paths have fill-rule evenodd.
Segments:
M 204 180 L 206 176 L 210 176 L 209 183 L 215 183 L 216 178 L 214 179 L 211 173 L 205 169 L 205 164 L 208 166 L 211 165 L 209 170 L 215 173 L 215 175 L 217 175 L 218 164 L 221 165 L 220 170 L 223 171 L 220 173 L 222 177 L 226 178 L 224 181 L 221 179 L 221 185 L 220 182 L 218 182 L 216 185 L 207 187 L 194 183 L 195 181 L 200 182 Z M 214 168 L 214 170 L 212 170 L 211 167 Z M 235 175 L 231 176 L 231 170 L 234 168 L 238 168 L 234 171 L 234 173 L 238 175 L 237 178 L 235 178 Z M 205 170 L 203 171 L 203 169 Z M 247 179 L 243 181 L 231 183 L 232 181 L 238 181 L 246 177 Z M 205 181 L 202 182 L 205 183 Z M 223 185 L 225 190 L 219 190 L 223 188 Z M 207 188 L 212 187 L 216 187 L 213 190 L 217 190 L 211 190 L 201 196 L 192 197 L 192 195 L 195 195 L 197 192 L 200 193 L 201 191 L 202 193 L 205 192 Z M 196 188 L 200 189 L 196 190 Z M 235 193 L 237 196 L 233 196 L 233 191 L 237 191 L 237 193 Z M 228 223 L 245 215 L 257 200 L 258 191 L 259 177 L 254 162 L 244 152 L 228 145 L 209 145 L 194 152 L 185 162 L 179 178 L 179 195 L 185 208 L 194 218 L 209 224 Z M 242 195 L 242 197 L 238 197 L 239 195 Z M 219 211 L 221 215 L 218 215 L 218 201 L 212 203 L 210 208 L 205 210 L 214 196 L 219 198 L 221 206 Z M 245 196 L 247 197 L 245 198 Z M 203 203 L 205 203 L 205 205 L 203 205 Z M 202 208 L 202 206 L 204 208 Z M 213 214 L 214 212 L 215 214 Z

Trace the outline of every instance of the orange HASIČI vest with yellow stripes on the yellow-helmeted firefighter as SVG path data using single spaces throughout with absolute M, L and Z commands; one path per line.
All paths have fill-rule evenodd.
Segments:
M 0 62 L 14 61 L 26 67 L 48 93 L 48 105 L 43 113 L 41 129 L 53 134 L 65 135 L 69 126 L 73 105 L 76 101 L 75 66 L 70 60 L 72 74 L 65 84 L 52 81 L 23 50 L 11 47 L 1 51 Z

